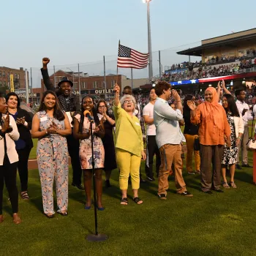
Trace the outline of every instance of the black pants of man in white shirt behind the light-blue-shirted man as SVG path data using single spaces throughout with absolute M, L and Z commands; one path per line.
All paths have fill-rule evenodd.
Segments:
M 155 135 L 148 135 L 147 136 L 147 148 L 146 148 L 146 176 L 153 178 L 153 161 L 154 161 L 154 154 L 156 154 L 156 172 L 157 176 L 159 173 L 159 167 L 161 165 L 161 157 L 159 153 L 159 148 L 157 147 L 156 136 Z

